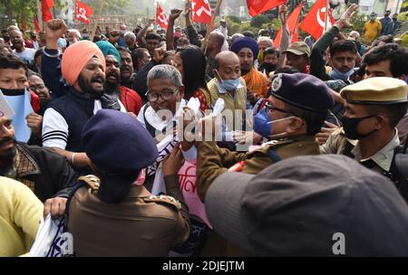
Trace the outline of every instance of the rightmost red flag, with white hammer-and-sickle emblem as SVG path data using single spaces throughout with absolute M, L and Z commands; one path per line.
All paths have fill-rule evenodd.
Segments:
M 335 18 L 333 18 L 332 10 L 328 10 L 327 29 L 331 28 L 335 24 Z M 299 28 L 306 33 L 310 33 L 316 40 L 324 33 L 325 28 L 325 0 L 317 0 L 315 5 L 312 6 L 309 13 L 306 14 L 305 19 Z

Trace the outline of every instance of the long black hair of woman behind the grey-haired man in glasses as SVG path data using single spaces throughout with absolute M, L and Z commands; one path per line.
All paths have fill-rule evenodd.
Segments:
M 184 86 L 186 90 L 184 95 L 186 100 L 191 98 L 196 90 L 208 90 L 206 84 L 206 56 L 198 46 L 188 45 L 184 50 L 178 52 L 183 61 Z

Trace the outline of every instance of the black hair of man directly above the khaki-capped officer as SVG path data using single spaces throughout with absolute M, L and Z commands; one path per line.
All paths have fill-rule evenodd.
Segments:
M 408 51 L 398 44 L 390 43 L 374 48 L 365 53 L 363 62 L 367 65 L 374 65 L 388 60 L 393 78 L 408 74 Z

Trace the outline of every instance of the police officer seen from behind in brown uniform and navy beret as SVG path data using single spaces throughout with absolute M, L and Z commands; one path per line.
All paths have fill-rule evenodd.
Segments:
M 177 175 L 165 175 L 169 195 L 151 195 L 142 185 L 158 150 L 136 118 L 100 110 L 83 128 L 83 145 L 98 177 L 82 177 L 88 185 L 68 206 L 76 256 L 167 256 L 189 238 Z

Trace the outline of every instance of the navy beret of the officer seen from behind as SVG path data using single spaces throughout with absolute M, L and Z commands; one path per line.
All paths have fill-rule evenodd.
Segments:
M 159 156 L 151 134 L 131 115 L 98 111 L 83 128 L 83 146 L 95 166 L 107 174 L 134 173 Z

